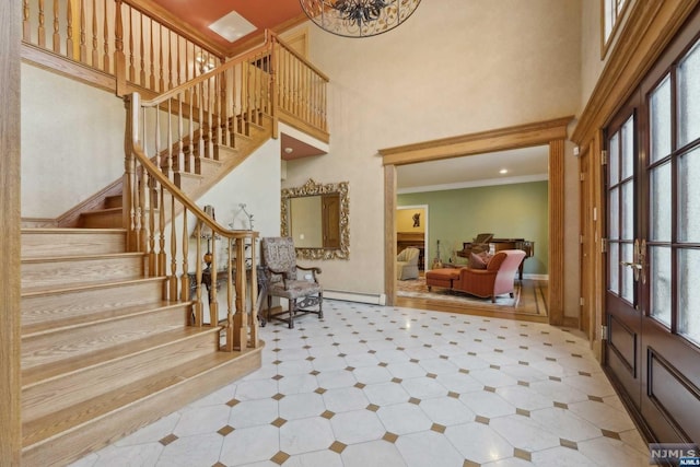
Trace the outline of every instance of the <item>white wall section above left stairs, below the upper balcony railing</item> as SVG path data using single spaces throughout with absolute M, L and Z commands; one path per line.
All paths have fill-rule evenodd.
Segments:
M 57 218 L 124 173 L 124 102 L 22 63 L 22 217 Z

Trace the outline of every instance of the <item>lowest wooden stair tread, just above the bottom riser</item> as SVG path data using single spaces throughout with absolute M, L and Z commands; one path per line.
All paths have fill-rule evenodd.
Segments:
M 57 412 L 25 422 L 22 427 L 23 445 L 28 446 L 49 439 L 56 433 L 78 428 L 85 422 L 104 417 L 122 407 L 128 407 L 137 400 L 153 397 L 178 383 L 226 364 L 250 351 L 215 352 L 212 355 L 201 357 L 147 378 L 116 387 L 108 393 L 83 400 Z

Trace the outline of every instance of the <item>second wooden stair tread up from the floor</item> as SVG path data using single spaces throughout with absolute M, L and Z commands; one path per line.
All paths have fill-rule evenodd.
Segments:
M 219 327 L 183 327 L 178 329 L 159 332 L 144 337 L 142 339 L 130 342 L 129 346 L 118 346 L 108 349 L 96 350 L 90 357 L 66 359 L 65 361 L 54 362 L 46 365 L 34 367 L 25 367 L 22 365 L 22 384 L 31 386 L 43 381 L 74 374 L 96 365 L 105 365 L 118 361 L 124 358 L 133 357 L 138 353 L 149 351 L 151 349 L 161 348 L 163 346 L 173 345 L 174 342 L 190 339 L 201 334 L 219 332 Z

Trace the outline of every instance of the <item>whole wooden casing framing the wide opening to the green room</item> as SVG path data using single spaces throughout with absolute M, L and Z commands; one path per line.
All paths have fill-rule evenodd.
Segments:
M 533 145 L 549 145 L 549 323 L 578 326 L 564 317 L 564 141 L 573 117 L 500 128 L 396 148 L 384 157 L 384 289 L 387 305 L 396 303 L 396 166 Z

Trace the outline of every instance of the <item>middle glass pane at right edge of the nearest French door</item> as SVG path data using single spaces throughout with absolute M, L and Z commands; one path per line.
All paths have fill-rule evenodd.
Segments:
M 678 240 L 700 242 L 700 149 L 678 157 Z

